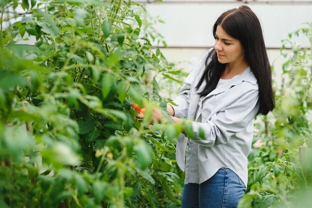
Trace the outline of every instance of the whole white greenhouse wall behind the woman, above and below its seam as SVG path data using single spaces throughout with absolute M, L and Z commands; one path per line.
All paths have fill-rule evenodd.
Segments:
M 212 26 L 225 10 L 239 5 L 249 6 L 258 16 L 264 34 L 275 81 L 281 81 L 284 62 L 280 55 L 282 40 L 305 24 L 312 22 L 311 0 L 138 0 L 149 15 L 164 23 L 153 25 L 167 47 L 159 44 L 168 61 L 177 68 L 191 70 L 202 54 L 214 44 Z M 308 38 L 294 39 L 303 47 L 311 47 Z M 158 45 L 154 43 L 154 45 Z

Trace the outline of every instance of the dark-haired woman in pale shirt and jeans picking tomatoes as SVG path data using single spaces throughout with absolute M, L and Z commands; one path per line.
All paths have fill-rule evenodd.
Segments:
M 248 181 L 253 119 L 275 105 L 255 13 L 248 6 L 225 11 L 213 35 L 214 48 L 186 78 L 176 105 L 167 105 L 175 123 L 192 120 L 194 133 L 192 138 L 181 134 L 177 141 L 177 163 L 185 170 L 181 208 L 237 207 Z M 158 109 L 153 116 L 164 118 Z

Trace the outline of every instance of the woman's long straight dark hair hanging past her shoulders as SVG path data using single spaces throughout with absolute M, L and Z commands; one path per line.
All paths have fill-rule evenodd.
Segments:
M 239 40 L 245 50 L 245 60 L 254 73 L 259 86 L 258 114 L 268 114 L 275 106 L 272 89 L 272 72 L 264 44 L 261 24 L 256 14 L 248 6 L 230 9 L 222 13 L 213 25 L 213 35 L 216 37 L 217 26 L 220 25 L 231 37 Z M 206 85 L 201 96 L 213 91 L 225 70 L 226 64 L 218 61 L 215 49 L 206 58 L 206 68 L 196 86 L 198 90 L 205 81 Z

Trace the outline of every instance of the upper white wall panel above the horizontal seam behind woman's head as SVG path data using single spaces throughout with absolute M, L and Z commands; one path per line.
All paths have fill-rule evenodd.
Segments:
M 155 27 L 164 36 L 169 47 L 213 45 L 212 26 L 216 18 L 223 11 L 242 4 L 235 0 L 223 3 L 202 1 L 174 2 L 171 0 L 171 3 L 167 1 L 146 3 L 149 14 L 158 16 L 165 22 L 156 24 Z M 288 33 L 305 26 L 306 22 L 312 22 L 311 1 L 273 0 L 266 2 L 271 3 L 258 0 L 245 5 L 251 7 L 260 19 L 268 48 L 280 48 L 281 41 L 287 38 Z M 294 39 L 294 41 L 301 42 L 304 47 L 310 47 L 308 39 Z

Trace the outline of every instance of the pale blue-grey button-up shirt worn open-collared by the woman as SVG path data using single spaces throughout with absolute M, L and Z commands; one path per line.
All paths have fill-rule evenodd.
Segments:
M 195 138 L 180 134 L 176 161 L 185 171 L 185 184 L 201 184 L 220 168 L 234 171 L 247 186 L 248 160 L 253 140 L 253 119 L 259 109 L 257 79 L 248 67 L 222 83 L 204 98 L 195 87 L 205 69 L 205 59 L 187 76 L 174 99 L 174 116 L 188 118 Z M 199 138 L 202 129 L 205 139 Z M 187 153 L 186 153 L 187 152 Z M 186 153 L 186 159 L 185 159 Z

